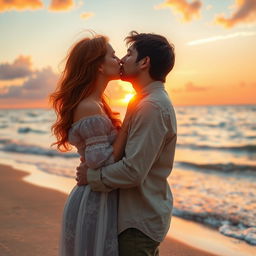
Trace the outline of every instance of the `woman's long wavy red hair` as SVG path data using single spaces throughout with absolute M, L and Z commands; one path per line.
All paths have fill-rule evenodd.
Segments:
M 56 112 L 57 120 L 51 129 L 57 141 L 58 150 L 71 149 L 68 132 L 73 123 L 77 105 L 94 90 L 100 65 L 107 53 L 108 39 L 104 36 L 84 38 L 76 43 L 66 57 L 66 65 L 59 79 L 56 91 L 50 95 L 50 102 Z M 118 113 L 113 112 L 102 97 L 104 110 L 117 128 L 121 126 Z

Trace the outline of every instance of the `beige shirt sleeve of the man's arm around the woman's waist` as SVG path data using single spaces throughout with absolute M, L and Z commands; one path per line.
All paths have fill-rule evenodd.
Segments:
M 131 120 L 125 157 L 97 170 L 88 169 L 87 180 L 92 189 L 107 191 L 138 186 L 159 156 L 167 132 L 161 110 L 144 102 Z

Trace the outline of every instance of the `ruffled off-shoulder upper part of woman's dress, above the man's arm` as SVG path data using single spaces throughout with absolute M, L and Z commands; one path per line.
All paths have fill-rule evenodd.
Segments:
M 73 127 L 75 144 L 78 145 L 80 142 L 78 152 L 84 156 L 86 165 L 92 169 L 114 162 L 112 147 L 114 135 L 116 131 L 111 121 L 100 115 L 84 118 Z

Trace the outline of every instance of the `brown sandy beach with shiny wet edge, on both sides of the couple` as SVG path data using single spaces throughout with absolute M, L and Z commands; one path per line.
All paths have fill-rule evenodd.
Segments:
M 29 251 L 31 255 L 42 255 L 42 250 L 47 249 L 43 255 L 56 255 L 62 209 L 75 181 L 38 170 L 24 171 L 25 165 L 17 166 L 14 169 L 0 164 L 3 202 L 0 219 L 4 223 L 0 254 L 16 255 L 14 250 L 17 250 L 21 256 L 23 251 L 28 256 Z M 160 252 L 162 256 L 252 256 L 256 247 L 204 225 L 173 217 Z

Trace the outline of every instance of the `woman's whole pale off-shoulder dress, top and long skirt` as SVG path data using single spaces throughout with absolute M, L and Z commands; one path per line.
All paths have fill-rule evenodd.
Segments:
M 69 131 L 69 142 L 92 169 L 114 162 L 116 128 L 106 115 L 85 117 Z M 62 223 L 60 256 L 117 256 L 118 191 L 92 191 L 75 186 L 67 198 Z

